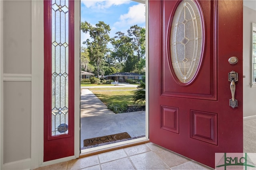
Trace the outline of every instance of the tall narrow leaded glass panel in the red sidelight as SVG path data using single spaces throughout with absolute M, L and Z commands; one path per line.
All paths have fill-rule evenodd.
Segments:
M 52 0 L 52 136 L 68 133 L 68 0 Z

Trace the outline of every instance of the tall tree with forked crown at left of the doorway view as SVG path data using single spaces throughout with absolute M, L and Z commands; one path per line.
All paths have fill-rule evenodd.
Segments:
M 96 63 L 96 74 L 99 77 L 100 65 L 104 62 L 104 56 L 109 51 L 107 45 L 110 41 L 110 26 L 103 21 L 99 21 L 94 27 L 87 21 L 84 21 L 81 23 L 81 30 L 84 33 L 90 34 L 91 39 L 87 39 L 83 44 L 87 45 L 90 60 Z

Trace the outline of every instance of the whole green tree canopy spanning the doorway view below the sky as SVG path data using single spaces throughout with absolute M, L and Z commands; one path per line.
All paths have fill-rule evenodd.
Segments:
M 145 28 L 133 25 L 127 33 L 118 31 L 112 38 L 110 26 L 103 21 L 95 26 L 84 21 L 81 30 L 90 35 L 90 39 L 83 42 L 86 47 L 81 48 L 81 70 L 94 72 L 98 77 L 115 72 L 144 74 Z

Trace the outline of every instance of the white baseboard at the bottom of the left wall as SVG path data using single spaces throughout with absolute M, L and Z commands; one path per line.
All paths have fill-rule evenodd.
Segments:
M 4 164 L 4 170 L 30 170 L 31 159 L 23 159 Z

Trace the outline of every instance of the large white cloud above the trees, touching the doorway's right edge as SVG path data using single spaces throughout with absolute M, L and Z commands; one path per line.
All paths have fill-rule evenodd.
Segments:
M 119 27 L 131 26 L 138 23 L 144 23 L 146 21 L 145 17 L 146 7 L 144 4 L 138 4 L 131 6 L 127 14 L 120 16 L 119 20 L 114 25 Z

